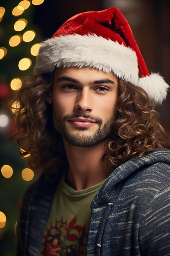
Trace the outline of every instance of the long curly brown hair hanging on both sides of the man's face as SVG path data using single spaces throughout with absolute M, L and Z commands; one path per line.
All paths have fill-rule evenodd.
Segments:
M 30 165 L 44 171 L 56 172 L 68 168 L 62 137 L 55 130 L 52 106 L 46 102 L 52 92 L 53 73 L 34 75 L 22 81 L 15 101 L 15 123 L 21 156 L 31 153 Z M 117 111 L 106 141 L 103 159 L 108 170 L 132 157 L 141 157 L 155 148 L 170 148 L 170 137 L 159 123 L 154 102 L 146 92 L 132 83 L 118 79 Z

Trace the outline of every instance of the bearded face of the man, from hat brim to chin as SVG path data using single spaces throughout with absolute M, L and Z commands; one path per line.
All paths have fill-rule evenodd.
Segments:
M 90 67 L 57 68 L 52 99 L 53 124 L 69 144 L 91 147 L 109 137 L 118 82 L 112 73 Z

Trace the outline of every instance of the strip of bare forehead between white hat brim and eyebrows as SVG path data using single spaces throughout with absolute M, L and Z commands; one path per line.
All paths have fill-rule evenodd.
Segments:
M 59 67 L 54 72 L 54 81 L 61 76 L 69 76 L 81 81 L 81 83 L 90 83 L 91 81 L 110 79 L 117 81 L 117 76 L 112 72 L 106 73 L 91 67 Z

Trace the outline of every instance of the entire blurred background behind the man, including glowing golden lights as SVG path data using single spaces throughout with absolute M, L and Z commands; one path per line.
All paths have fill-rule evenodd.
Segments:
M 15 255 L 15 228 L 20 201 L 26 188 L 38 178 L 20 158 L 10 112 L 2 104 L 11 101 L 22 86 L 20 77 L 31 75 L 40 43 L 62 23 L 84 11 L 118 7 L 128 20 L 149 72 L 159 72 L 170 84 L 169 0 L 1 0 L 0 1 L 0 256 Z M 170 93 L 157 107 L 161 124 L 170 132 Z

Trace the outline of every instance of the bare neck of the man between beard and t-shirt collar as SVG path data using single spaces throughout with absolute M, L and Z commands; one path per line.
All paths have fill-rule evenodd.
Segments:
M 83 148 L 72 146 L 63 139 L 69 170 L 66 182 L 75 190 L 86 189 L 109 176 L 107 164 L 102 160 L 106 141 Z

